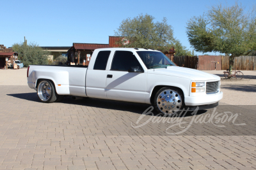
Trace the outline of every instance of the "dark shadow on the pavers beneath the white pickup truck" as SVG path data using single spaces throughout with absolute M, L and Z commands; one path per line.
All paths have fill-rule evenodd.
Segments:
M 16 97 L 19 99 L 24 99 L 27 101 L 41 103 L 40 100 L 38 99 L 36 92 L 21 93 L 21 94 L 6 94 L 6 95 Z M 136 113 L 136 114 L 140 114 L 140 115 L 143 114 L 151 106 L 150 104 L 130 103 L 130 102 L 124 102 L 124 101 L 112 101 L 112 100 L 105 100 L 105 99 L 93 99 L 93 98 L 88 98 L 88 97 L 84 97 L 81 100 L 73 100 L 73 99 L 71 99 L 70 96 L 64 97 L 63 101 L 61 101 L 60 104 L 74 104 L 74 105 L 87 106 L 87 107 L 93 107 L 93 108 L 102 108 L 102 109 L 108 109 L 108 110 L 114 110 L 114 111 L 127 111 L 127 112 Z M 150 111 L 150 110 L 148 110 L 148 111 Z M 148 113 L 148 111 L 147 111 L 147 113 Z M 207 110 L 199 110 L 196 113 L 196 115 L 201 115 L 206 112 L 207 112 Z M 156 117 L 164 116 L 164 114 L 159 114 L 154 110 L 152 111 L 152 113 Z M 185 112 L 183 112 L 183 113 L 185 113 Z M 193 111 L 188 111 L 185 115 L 183 113 L 173 115 L 173 116 L 174 117 L 191 117 L 191 116 L 193 116 Z M 152 114 L 148 114 L 148 115 L 152 115 Z

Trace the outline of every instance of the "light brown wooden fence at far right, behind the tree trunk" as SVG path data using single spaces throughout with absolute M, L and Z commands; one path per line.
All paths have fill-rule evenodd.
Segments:
M 234 58 L 233 69 L 237 70 L 256 70 L 256 56 L 240 56 Z M 221 56 L 221 69 L 225 70 L 229 67 L 229 56 Z

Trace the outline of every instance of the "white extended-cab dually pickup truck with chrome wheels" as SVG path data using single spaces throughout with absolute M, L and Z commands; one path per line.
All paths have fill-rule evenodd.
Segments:
M 175 66 L 147 48 L 100 48 L 88 67 L 31 65 L 27 76 L 44 103 L 68 95 L 94 97 L 152 104 L 158 113 L 172 114 L 188 107 L 212 108 L 223 97 L 219 76 Z

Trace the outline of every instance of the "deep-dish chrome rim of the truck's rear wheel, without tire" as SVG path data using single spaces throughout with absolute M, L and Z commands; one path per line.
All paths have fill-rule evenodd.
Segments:
M 48 101 L 51 97 L 52 88 L 51 85 L 47 81 L 41 81 L 38 85 L 38 97 L 42 101 Z

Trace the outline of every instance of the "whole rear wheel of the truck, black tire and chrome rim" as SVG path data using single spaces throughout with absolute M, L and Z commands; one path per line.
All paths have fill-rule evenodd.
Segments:
M 54 84 L 50 80 L 41 80 L 37 86 L 37 96 L 42 103 L 53 103 L 58 99 Z

